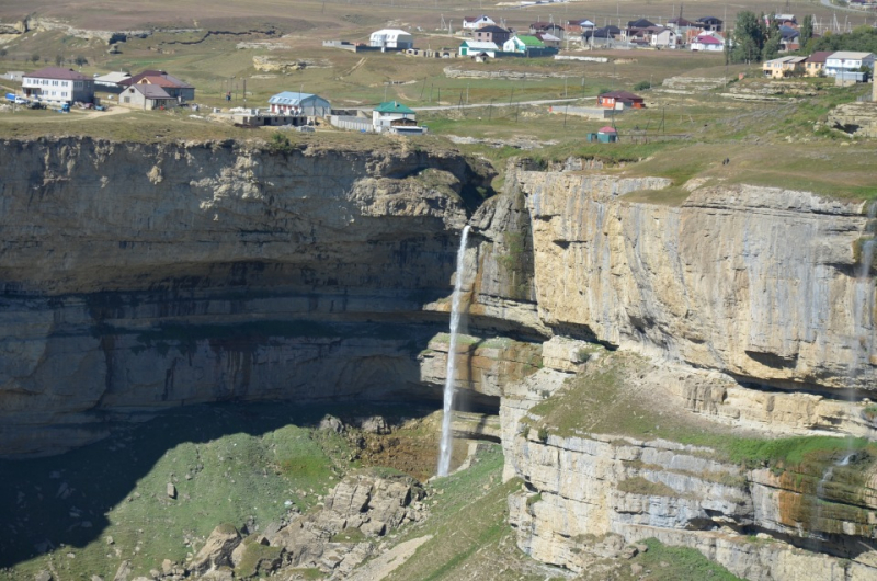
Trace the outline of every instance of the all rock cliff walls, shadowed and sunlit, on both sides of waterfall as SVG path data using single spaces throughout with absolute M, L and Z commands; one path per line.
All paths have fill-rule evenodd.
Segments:
M 745 185 L 695 186 L 680 206 L 628 202 L 670 182 L 526 160 L 482 203 L 486 162 L 407 145 L 2 150 L 2 456 L 56 454 L 189 403 L 437 402 L 468 223 L 457 387 L 500 402 L 505 476 L 531 490 L 510 498 L 522 549 L 580 570 L 586 535 L 656 536 L 751 579 L 877 568 L 866 457 L 854 486 L 829 492 L 836 511 L 815 517 L 821 465 L 705 460 L 660 434 L 560 425 L 539 406 L 577 374 L 615 369 L 631 402 L 660 392 L 664 411 L 716 430 L 873 440 L 862 203 Z M 747 545 L 756 533 L 775 543 Z

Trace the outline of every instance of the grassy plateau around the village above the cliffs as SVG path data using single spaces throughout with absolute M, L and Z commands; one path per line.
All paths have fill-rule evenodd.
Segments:
M 693 55 L 686 50 L 595 50 L 608 62 L 556 61 L 538 59 L 499 59 L 475 64 L 468 59 L 425 59 L 398 54 L 353 54 L 324 48 L 321 41 L 344 38 L 363 42 L 368 33 L 383 26 L 414 31 L 418 46 L 455 48 L 459 36 L 437 30 L 445 22 L 476 12 L 504 19 L 506 25 L 524 29 L 536 20 L 590 16 L 601 22 L 647 16 L 664 21 L 675 4 L 667 2 L 568 4 L 542 9 L 512 9 L 454 1 L 437 7 L 426 0 L 401 4 L 366 4 L 358 0 L 296 2 L 291 11 L 271 0 L 246 0 L 212 7 L 204 14 L 198 2 L 156 2 L 149 7 L 124 0 L 114 4 L 47 2 L 36 0 L 29 12 L 45 18 L 65 19 L 77 26 L 121 30 L 149 29 L 151 34 L 132 36 L 118 43 L 118 54 L 107 52 L 100 38 L 79 38 L 61 30 L 29 32 L 7 42 L 0 56 L 0 70 L 32 70 L 61 59 L 70 66 L 78 56 L 88 59 L 84 73 L 110 70 L 161 68 L 197 87 L 198 103 L 212 106 L 265 106 L 270 95 L 304 90 L 327 95 L 335 107 L 368 107 L 385 100 L 399 100 L 414 107 L 444 105 L 444 111 L 422 111 L 419 122 L 434 136 L 454 136 L 480 143 L 457 147 L 487 157 L 498 170 L 497 186 L 502 183 L 505 160 L 526 155 L 538 160 L 558 161 L 570 156 L 602 159 L 613 167 L 607 171 L 628 175 L 664 175 L 673 187 L 663 192 L 641 192 L 630 201 L 680 204 L 687 191 L 682 186 L 691 178 L 705 184 L 754 183 L 777 187 L 812 190 L 822 195 L 852 200 L 877 197 L 868 159 L 877 152 L 866 139 L 851 139 L 820 126 L 835 105 L 855 101 L 869 88 L 835 89 L 822 81 L 809 81 L 813 96 L 781 94 L 775 101 L 738 101 L 725 95 L 729 89 L 760 90 L 758 65 L 727 67 L 721 55 Z M 733 10 L 763 10 L 756 3 L 734 4 Z M 725 4 L 713 1 L 686 5 L 685 15 L 714 14 L 722 18 Z M 829 15 L 819 4 L 793 3 L 789 10 Z M 22 16 L 21 9 L 0 7 L 4 21 Z M 857 15 L 850 22 L 856 24 Z M 732 13 L 728 14 L 732 20 Z M 420 30 L 418 30 L 420 27 Z M 452 29 L 455 29 L 452 23 Z M 34 61 L 33 57 L 37 57 Z M 269 58 L 296 65 L 284 70 L 258 70 L 255 60 Z M 453 78 L 446 68 L 486 72 L 525 72 L 537 78 Z M 744 75 L 738 81 L 739 75 Z M 715 78 L 728 87 L 706 92 L 677 94 L 646 90 L 647 109 L 628 111 L 611 119 L 622 143 L 592 145 L 584 141 L 607 121 L 586 121 L 562 114 L 562 103 L 522 104 L 533 100 L 573 99 L 571 104 L 593 104 L 594 95 L 607 89 L 631 90 L 642 81 L 653 87 L 670 77 Z M 246 80 L 246 93 L 244 93 Z M 733 81 L 733 82 L 731 82 Z M 0 82 L 14 90 L 11 81 Z M 232 101 L 225 101 L 226 92 Z M 106 95 L 99 92 L 99 95 Z M 481 104 L 460 109 L 463 104 Z M 112 139 L 183 140 L 242 139 L 269 140 L 270 132 L 238 129 L 208 121 L 203 109 L 198 115 L 186 113 L 125 113 L 112 117 L 73 112 L 0 114 L 0 137 L 41 135 L 95 135 Z M 549 111 L 555 110 L 555 113 Z M 200 118 L 204 117 L 204 118 Z M 316 135 L 295 136 L 296 144 L 353 144 L 365 148 L 395 148 L 395 141 L 379 136 L 357 136 L 323 128 Z M 839 145 L 847 144 L 841 150 Z M 524 149 L 522 149 L 524 148 Z M 720 162 L 730 158 L 729 166 Z M 637 163 L 633 163 L 637 162 Z

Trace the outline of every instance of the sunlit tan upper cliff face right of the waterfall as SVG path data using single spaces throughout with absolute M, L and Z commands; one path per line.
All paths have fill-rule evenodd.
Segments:
M 806 192 L 695 190 L 627 203 L 660 180 L 519 172 L 540 320 L 739 380 L 877 387 L 873 278 L 857 277 L 861 203 Z

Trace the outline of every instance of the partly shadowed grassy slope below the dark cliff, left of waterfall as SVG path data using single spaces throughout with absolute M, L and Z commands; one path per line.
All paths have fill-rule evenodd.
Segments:
M 391 436 L 363 434 L 361 449 L 351 438 L 314 429 L 327 411 L 343 419 L 405 414 L 414 428 Z M 307 511 L 349 470 L 377 464 L 424 478 L 431 471 L 422 463 L 435 466 L 438 422 L 412 414 L 429 411 L 196 406 L 62 456 L 0 462 L 0 523 L 7 535 L 0 570 L 10 567 L 11 579 L 33 579 L 52 568 L 55 579 L 112 579 L 128 559 L 136 577 L 166 558 L 184 562 L 220 523 L 263 527 L 291 509 Z M 369 452 L 376 449 L 373 442 L 383 443 L 380 453 Z M 418 457 L 407 458 L 412 451 Z M 460 460 L 458 455 L 455 463 Z M 176 498 L 167 494 L 168 483 Z

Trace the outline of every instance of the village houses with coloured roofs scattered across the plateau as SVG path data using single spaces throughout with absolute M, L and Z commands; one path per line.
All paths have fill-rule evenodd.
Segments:
M 344 39 L 323 39 L 322 47 L 352 53 L 399 55 L 412 58 L 466 60 L 489 64 L 505 59 L 554 59 L 607 62 L 605 57 L 588 56 L 600 49 L 673 50 L 697 54 L 726 55 L 732 48 L 726 22 L 704 15 L 687 20 L 680 14 L 665 22 L 654 23 L 648 19 L 628 21 L 622 26 L 599 19 L 571 19 L 555 22 L 532 22 L 526 30 L 504 26 L 486 14 L 466 16 L 453 38 L 459 41 L 456 48 L 424 48 L 418 46 L 415 34 L 402 29 L 381 29 L 371 33 L 368 43 Z M 443 19 L 444 24 L 444 19 Z M 779 34 L 777 53 L 782 56 L 765 60 L 761 65 L 764 78 L 789 79 L 795 77 L 830 77 L 839 86 L 868 82 L 874 69 L 875 55 L 866 52 L 813 52 L 801 56 L 801 26 L 793 14 L 765 16 L 765 24 L 773 25 Z M 451 23 L 447 23 L 452 32 Z M 811 33 L 808 32 L 808 35 Z M 390 57 L 391 58 L 391 57 Z M 726 57 L 727 61 L 727 57 Z M 230 123 L 237 127 L 292 128 L 310 133 L 315 127 L 350 130 L 363 134 L 423 135 L 428 127 L 419 124 L 417 110 L 398 99 L 387 99 L 371 106 L 333 106 L 327 95 L 303 91 L 284 90 L 273 94 L 266 102 L 247 102 L 247 80 L 242 88 L 234 88 L 229 79 L 224 100 L 228 106 L 203 105 L 196 101 L 196 87 L 171 72 L 146 69 L 139 72 L 112 71 L 92 77 L 71 68 L 48 66 L 32 72 L 10 71 L 5 78 L 21 82 L 21 91 L 7 93 L 13 107 L 48 109 L 68 113 L 71 107 L 93 109 L 103 112 L 109 107 L 129 111 L 171 111 L 187 107 L 209 118 Z M 741 76 L 742 78 L 742 76 Z M 425 81 L 424 81 L 425 82 Z M 582 86 L 584 79 L 582 78 Z M 241 89 L 238 98 L 238 89 Z M 424 84 L 425 88 L 425 84 Z M 634 87 L 649 89 L 651 82 Z M 557 100 L 566 102 L 562 107 L 550 106 L 549 112 L 563 112 L 590 119 L 610 119 L 608 126 L 586 134 L 589 141 L 613 143 L 617 140 L 614 128 L 616 114 L 626 110 L 642 110 L 646 99 L 634 91 L 612 89 L 599 92 L 588 100 Z M 441 92 L 440 99 L 441 99 Z M 567 96 L 566 94 L 563 95 Z M 462 105 L 460 95 L 460 103 Z M 593 99 L 593 101 L 590 101 Z M 468 89 L 466 105 L 469 105 Z M 433 107 L 436 109 L 436 107 Z M 448 106 L 448 109 L 453 109 Z

